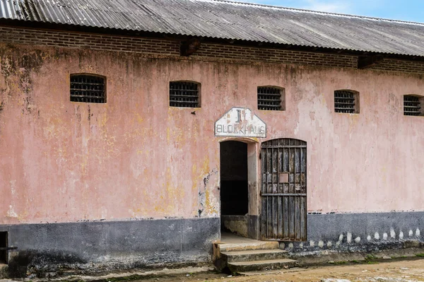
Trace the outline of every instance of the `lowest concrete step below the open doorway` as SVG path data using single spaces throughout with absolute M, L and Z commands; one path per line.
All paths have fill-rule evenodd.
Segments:
M 298 262 L 293 259 L 269 259 L 256 262 L 229 262 L 228 269 L 231 272 L 240 273 L 246 271 L 289 269 L 297 266 L 297 264 Z

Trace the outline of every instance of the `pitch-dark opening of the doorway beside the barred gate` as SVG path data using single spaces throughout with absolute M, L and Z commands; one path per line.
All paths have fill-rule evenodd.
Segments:
M 248 212 L 247 143 L 220 143 L 221 215 L 244 216 Z

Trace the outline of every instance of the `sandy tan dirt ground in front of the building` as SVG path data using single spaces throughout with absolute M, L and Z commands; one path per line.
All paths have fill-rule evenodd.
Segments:
M 290 269 L 279 274 L 255 276 L 228 276 L 203 273 L 184 274 L 167 278 L 148 278 L 143 281 L 160 282 L 412 282 L 424 281 L 424 259 L 379 262 L 375 264 L 349 264 L 338 266 L 314 266 L 307 269 Z M 141 281 L 140 281 L 141 282 Z

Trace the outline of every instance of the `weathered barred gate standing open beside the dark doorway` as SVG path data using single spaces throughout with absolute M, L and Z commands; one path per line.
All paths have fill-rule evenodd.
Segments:
M 262 143 L 261 166 L 262 240 L 306 241 L 306 142 Z

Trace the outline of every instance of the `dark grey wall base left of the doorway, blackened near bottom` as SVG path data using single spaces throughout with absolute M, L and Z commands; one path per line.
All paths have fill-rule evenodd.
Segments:
M 0 225 L 8 231 L 9 276 L 57 271 L 134 269 L 209 262 L 220 218 Z

